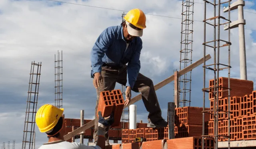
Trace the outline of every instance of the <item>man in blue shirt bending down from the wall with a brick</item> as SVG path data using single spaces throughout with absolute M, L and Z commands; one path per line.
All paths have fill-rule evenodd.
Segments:
M 140 71 L 140 53 L 142 49 L 143 29 L 146 28 L 146 16 L 140 9 L 130 10 L 121 25 L 111 26 L 99 35 L 91 51 L 91 77 L 97 91 L 95 108 L 94 141 L 97 141 L 98 123 L 96 112 L 99 94 L 113 90 L 116 82 L 126 86 L 125 106 L 131 100 L 131 90 L 140 92 L 148 114 L 148 127 L 167 127 L 162 118 L 154 84 Z M 128 63 L 128 65 L 126 65 Z M 108 129 L 106 130 L 108 142 Z

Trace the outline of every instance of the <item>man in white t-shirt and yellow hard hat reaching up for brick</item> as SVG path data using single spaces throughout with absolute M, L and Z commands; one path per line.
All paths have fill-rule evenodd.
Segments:
M 98 142 L 96 146 L 86 146 L 82 143 L 68 142 L 64 140 L 65 123 L 63 118 L 63 108 L 57 108 L 50 104 L 41 106 L 36 112 L 36 125 L 39 131 L 46 133 L 48 143 L 44 143 L 39 149 L 104 149 L 106 127 L 114 123 L 114 113 L 107 118 L 102 118 L 101 112 L 98 121 Z

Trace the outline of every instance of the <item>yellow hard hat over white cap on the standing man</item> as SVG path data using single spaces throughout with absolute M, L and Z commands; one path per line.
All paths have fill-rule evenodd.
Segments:
M 124 16 L 124 20 L 126 20 L 126 24 L 127 22 L 132 24 L 127 25 L 127 31 L 130 35 L 142 36 L 143 29 L 146 28 L 146 16 L 142 10 L 137 8 L 130 10 L 126 16 Z

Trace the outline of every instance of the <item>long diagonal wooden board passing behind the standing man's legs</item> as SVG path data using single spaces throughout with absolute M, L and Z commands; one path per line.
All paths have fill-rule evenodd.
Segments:
M 210 54 L 206 55 L 205 56 L 205 61 L 208 61 L 209 59 L 211 59 L 211 56 Z M 204 57 L 199 59 L 198 61 L 196 61 L 195 63 L 189 65 L 188 67 L 182 69 L 181 71 L 178 72 L 178 75 L 181 76 L 185 73 L 188 73 L 189 71 L 192 71 L 192 69 L 198 67 L 199 65 L 201 65 L 202 63 L 204 63 Z M 154 86 L 155 90 L 158 90 L 160 88 L 162 88 L 163 86 L 165 86 L 166 84 L 172 82 L 174 80 L 174 75 L 170 76 L 169 78 L 166 78 L 165 80 L 163 80 L 162 82 L 156 84 Z M 130 106 L 131 104 L 134 104 L 135 102 L 141 100 L 141 94 L 135 96 L 134 98 L 131 99 L 130 103 L 127 105 L 127 106 L 124 106 L 124 108 L 127 108 L 128 106 Z M 74 137 L 75 135 L 85 131 L 86 129 L 89 129 L 90 127 L 93 127 L 94 126 L 94 121 L 95 120 L 92 120 L 84 125 L 82 125 L 81 127 L 77 128 L 76 130 L 66 134 L 64 136 L 64 140 L 68 140 L 72 137 Z

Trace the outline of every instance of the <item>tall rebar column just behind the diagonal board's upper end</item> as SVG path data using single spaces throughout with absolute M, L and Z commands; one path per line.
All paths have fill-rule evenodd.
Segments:
M 193 15 L 194 15 L 194 0 L 192 0 L 192 2 L 190 0 L 182 0 L 180 70 L 192 64 L 193 19 L 194 19 Z M 178 91 L 179 103 L 182 103 L 183 107 L 186 106 L 187 102 L 189 102 L 189 106 L 190 106 L 190 102 L 191 102 L 191 74 L 192 74 L 192 71 L 186 74 L 183 74 L 182 76 L 179 76 L 179 82 L 180 82 L 179 91 Z

